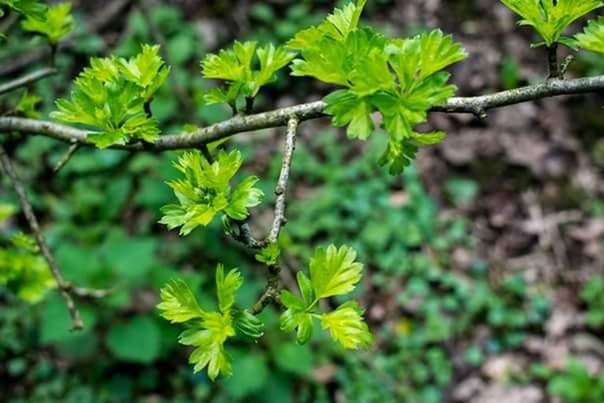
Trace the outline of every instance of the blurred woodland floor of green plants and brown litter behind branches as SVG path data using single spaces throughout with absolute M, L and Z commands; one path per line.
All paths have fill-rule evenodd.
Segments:
M 80 1 L 73 41 L 57 59 L 61 74 L 37 83 L 43 115 L 69 91 L 93 55 L 131 56 L 162 43 L 174 80 L 153 102 L 165 129 L 229 117 L 203 106 L 215 83 L 199 61 L 234 39 L 283 43 L 324 18 L 331 1 Z M 363 23 L 390 36 L 440 27 L 469 51 L 453 68 L 461 95 L 538 82 L 543 49 L 496 0 L 374 0 Z M 45 48 L 0 20 L 0 80 L 44 63 Z M 12 24 L 12 25 L 11 25 Z M 604 73 L 604 58 L 581 55 L 570 76 Z M 256 110 L 320 99 L 310 79 L 263 89 Z M 0 99 L 2 111 L 20 93 Z M 414 167 L 391 177 L 376 161 L 385 136 L 348 141 L 327 119 L 305 122 L 295 154 L 285 284 L 316 246 L 347 243 L 366 265 L 356 296 L 377 342 L 344 352 L 322 332 L 298 346 L 268 309 L 259 343 L 231 343 L 233 376 L 194 375 L 179 330 L 158 316 L 158 289 L 183 277 L 202 306 L 213 301 L 218 261 L 246 278 L 241 303 L 264 284 L 253 256 L 225 239 L 218 223 L 180 238 L 157 224 L 173 196 L 177 153 L 79 150 L 59 174 L 67 146 L 24 137 L 19 174 L 29 184 L 64 275 L 80 286 L 112 287 L 80 303 L 86 330 L 70 333 L 63 301 L 37 304 L 0 288 L 0 401 L 7 402 L 569 402 L 604 401 L 604 97 L 546 99 L 473 116 L 433 114 L 449 133 L 422 149 Z M 252 226 L 272 219 L 282 129 L 239 135 L 248 173 L 269 195 Z M 0 178 L 0 201 L 15 203 Z M 0 226 L 27 230 L 19 216 Z

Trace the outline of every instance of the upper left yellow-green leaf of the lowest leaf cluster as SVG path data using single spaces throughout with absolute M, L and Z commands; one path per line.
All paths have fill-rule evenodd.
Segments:
M 157 308 L 161 316 L 171 323 L 182 323 L 194 318 L 202 318 L 204 311 L 199 307 L 193 291 L 183 280 L 173 280 L 160 291 L 161 303 Z

